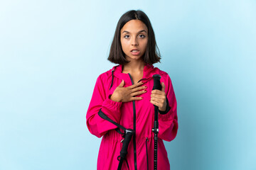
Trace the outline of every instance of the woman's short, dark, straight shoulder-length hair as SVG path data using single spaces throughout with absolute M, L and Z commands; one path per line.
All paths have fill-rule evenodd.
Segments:
M 114 62 L 115 64 L 126 64 L 129 61 L 125 59 L 125 54 L 122 50 L 122 45 L 120 41 L 120 30 L 122 27 L 131 20 L 140 20 L 142 21 L 146 27 L 148 28 L 148 42 L 146 45 L 146 51 L 143 57 L 144 62 L 147 64 L 154 64 L 156 62 L 160 62 L 161 55 L 159 52 L 159 48 L 156 45 L 156 38 L 154 35 L 154 30 L 151 26 L 148 16 L 141 10 L 131 10 L 124 13 L 117 23 L 117 28 L 114 33 L 114 38 L 110 47 L 110 55 L 107 60 L 110 62 Z

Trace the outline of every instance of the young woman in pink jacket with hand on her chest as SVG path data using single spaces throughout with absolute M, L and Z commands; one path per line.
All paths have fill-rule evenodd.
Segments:
M 124 13 L 108 57 L 118 65 L 97 78 L 86 115 L 92 135 L 103 136 L 97 169 L 154 169 L 154 105 L 159 107 L 157 167 L 170 169 L 163 140 L 176 137 L 177 104 L 169 74 L 153 66 L 161 60 L 156 48 L 146 14 Z M 161 76 L 161 91 L 152 91 L 154 74 Z M 132 133 L 130 142 L 124 140 L 126 132 Z

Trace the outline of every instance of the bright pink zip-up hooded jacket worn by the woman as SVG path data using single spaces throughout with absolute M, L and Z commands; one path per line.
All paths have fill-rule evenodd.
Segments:
M 158 140 L 158 169 L 170 169 L 169 159 L 164 147 L 163 140 L 174 140 L 178 130 L 177 103 L 174 88 L 171 84 L 169 74 L 161 71 L 153 65 L 145 64 L 143 71 L 144 85 L 147 92 L 141 101 L 115 102 L 110 100 L 110 94 L 124 79 L 124 87 L 131 86 L 132 80 L 129 74 L 122 73 L 122 65 L 114 66 L 109 71 L 100 74 L 97 78 L 95 89 L 92 94 L 89 108 L 86 115 L 87 128 L 97 137 L 102 137 L 100 151 L 97 159 L 97 169 L 115 170 L 119 164 L 117 157 L 122 148 L 122 135 L 115 128 L 116 125 L 103 119 L 98 115 L 101 111 L 110 119 L 124 126 L 133 129 L 135 136 L 129 142 L 127 162 L 129 169 L 147 169 L 147 158 L 149 169 L 154 168 L 154 105 L 151 104 L 150 95 L 153 88 L 153 75 L 161 75 L 161 82 L 164 82 L 166 97 L 169 101 L 170 110 L 168 113 L 159 114 L 159 140 Z M 147 154 L 146 154 L 147 152 Z M 148 157 L 147 157 L 148 156 Z M 124 162 L 122 169 L 128 169 Z

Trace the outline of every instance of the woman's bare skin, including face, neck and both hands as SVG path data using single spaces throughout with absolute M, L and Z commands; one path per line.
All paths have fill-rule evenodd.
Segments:
M 148 29 L 146 25 L 140 20 L 131 20 L 127 22 L 120 30 L 120 41 L 125 58 L 130 61 L 129 63 L 124 64 L 122 72 L 130 73 L 134 82 L 137 82 L 143 77 L 144 61 L 142 56 L 146 51 L 148 42 Z M 140 55 L 132 55 L 131 50 L 134 48 L 140 51 Z M 122 80 L 119 86 L 114 90 L 110 99 L 117 102 L 142 100 L 142 97 L 134 97 L 147 92 L 145 90 L 147 87 L 142 86 L 142 84 L 143 81 L 139 81 L 139 83 L 135 83 L 132 86 L 124 87 L 124 80 Z M 164 82 L 161 83 L 161 86 L 161 91 L 151 91 L 150 103 L 158 106 L 159 111 L 165 111 L 166 94 L 164 92 Z

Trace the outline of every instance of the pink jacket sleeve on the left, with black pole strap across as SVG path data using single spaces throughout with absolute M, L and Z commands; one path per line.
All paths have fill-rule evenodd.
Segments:
M 112 101 L 109 96 L 110 94 L 107 94 L 107 87 L 104 86 L 101 76 L 99 76 L 86 114 L 87 128 L 92 135 L 97 137 L 102 137 L 102 135 L 105 135 L 108 130 L 117 128 L 117 126 L 98 115 L 100 109 L 110 119 L 117 123 L 120 121 L 120 107 L 122 102 Z

